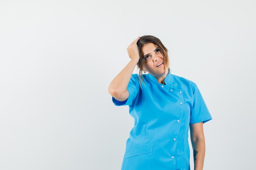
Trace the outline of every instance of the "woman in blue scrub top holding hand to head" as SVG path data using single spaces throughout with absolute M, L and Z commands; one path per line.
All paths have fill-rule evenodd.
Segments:
M 135 119 L 121 169 L 189 170 L 190 127 L 195 170 L 202 170 L 203 123 L 212 118 L 198 87 L 171 74 L 167 49 L 158 38 L 137 38 L 127 51 L 131 60 L 108 89 L 114 104 L 128 105 Z M 132 74 L 136 65 L 139 75 Z

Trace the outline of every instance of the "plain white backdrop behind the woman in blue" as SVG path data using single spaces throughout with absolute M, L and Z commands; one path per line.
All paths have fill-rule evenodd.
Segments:
M 172 73 L 207 103 L 204 170 L 254 169 L 255 9 L 254 0 L 1 0 L 0 170 L 119 170 L 133 120 L 108 85 L 142 35 L 162 40 Z

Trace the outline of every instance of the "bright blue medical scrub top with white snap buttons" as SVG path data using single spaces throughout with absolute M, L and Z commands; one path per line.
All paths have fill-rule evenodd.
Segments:
M 129 97 L 117 106 L 128 105 L 134 127 L 126 141 L 121 170 L 189 170 L 189 124 L 212 119 L 195 83 L 172 75 L 165 85 L 150 74 L 132 74 Z

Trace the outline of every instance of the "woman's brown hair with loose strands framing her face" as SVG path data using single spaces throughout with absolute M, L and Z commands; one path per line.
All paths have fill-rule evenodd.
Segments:
M 144 35 L 137 42 L 137 46 L 139 48 L 139 62 L 137 63 L 137 66 L 139 67 L 139 85 L 140 86 L 141 86 L 141 79 L 144 84 L 144 80 L 142 78 L 142 62 L 141 62 L 141 60 L 143 60 L 143 56 L 142 56 L 141 49 L 144 45 L 148 44 L 149 42 L 152 42 L 159 48 L 159 50 L 164 58 L 165 73 L 166 73 L 166 75 L 168 74 L 168 68 L 169 68 L 168 50 L 166 49 L 164 44 L 158 38 L 156 38 L 152 35 Z

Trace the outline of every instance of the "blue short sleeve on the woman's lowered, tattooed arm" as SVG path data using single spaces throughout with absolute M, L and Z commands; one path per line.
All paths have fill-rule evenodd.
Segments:
M 204 102 L 204 99 L 198 89 L 198 86 L 194 84 L 193 90 L 193 107 L 191 110 L 190 124 L 196 124 L 199 122 L 207 122 L 212 119 L 211 114 Z

